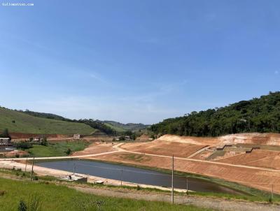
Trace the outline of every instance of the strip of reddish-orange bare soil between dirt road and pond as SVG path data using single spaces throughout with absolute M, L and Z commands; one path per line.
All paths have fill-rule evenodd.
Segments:
M 172 159 L 165 157 L 153 157 L 144 154 L 131 154 L 127 152 L 116 152 L 106 154 L 92 159 L 101 159 L 104 161 L 130 163 L 139 166 L 151 166 L 157 168 L 171 169 Z M 274 184 L 274 191 L 280 193 L 280 173 L 260 169 L 241 168 L 237 166 L 222 166 L 215 163 L 199 163 L 196 161 L 184 161 L 175 159 L 174 169 L 218 177 L 224 180 L 239 182 L 258 189 L 269 191 L 271 184 Z

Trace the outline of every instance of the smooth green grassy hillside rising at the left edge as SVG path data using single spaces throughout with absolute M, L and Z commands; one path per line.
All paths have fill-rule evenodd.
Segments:
M 12 121 L 15 121 L 13 123 Z M 18 133 L 90 134 L 94 129 L 82 123 L 33 117 L 22 112 L 0 108 L 0 131 L 8 129 Z

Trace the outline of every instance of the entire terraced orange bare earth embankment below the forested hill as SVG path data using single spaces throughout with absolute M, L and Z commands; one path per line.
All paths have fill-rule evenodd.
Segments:
M 253 150 L 251 153 L 237 152 L 227 154 L 214 161 L 187 159 L 190 154 L 206 145 L 220 147 L 225 144 L 255 143 L 262 145 L 280 145 L 279 134 L 237 134 L 219 138 L 193 138 L 165 135 L 151 143 L 125 143 L 120 146 L 123 152 L 104 154 L 92 159 L 117 161 L 134 165 L 171 169 L 171 157 L 174 154 L 175 170 L 197 173 L 210 177 L 246 184 L 250 187 L 280 193 L 279 153 L 269 150 Z M 212 154 L 212 152 L 201 152 Z M 137 154 L 137 156 L 133 155 Z M 180 159 L 181 158 L 181 159 Z M 225 163 L 226 165 L 223 165 Z M 240 166 L 241 164 L 241 166 Z M 251 168 L 253 167 L 253 168 Z

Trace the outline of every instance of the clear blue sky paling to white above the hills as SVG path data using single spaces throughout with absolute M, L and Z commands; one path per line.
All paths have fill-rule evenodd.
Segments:
M 21 2 L 0 5 L 1 106 L 152 124 L 279 90 L 280 1 Z

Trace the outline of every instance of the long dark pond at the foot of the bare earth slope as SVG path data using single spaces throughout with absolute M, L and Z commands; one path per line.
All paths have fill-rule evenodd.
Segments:
M 75 170 L 75 173 L 104 177 L 112 180 L 123 180 L 139 184 L 151 184 L 162 187 L 171 187 L 172 184 L 172 175 L 167 173 L 161 173 L 157 170 L 147 170 L 143 168 L 96 161 L 48 161 L 36 163 L 36 166 L 71 172 Z M 187 178 L 174 175 L 174 188 L 187 189 Z M 188 178 L 188 189 L 200 192 L 241 194 L 239 191 L 195 178 Z

